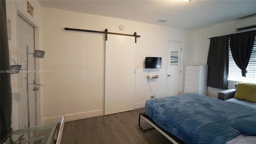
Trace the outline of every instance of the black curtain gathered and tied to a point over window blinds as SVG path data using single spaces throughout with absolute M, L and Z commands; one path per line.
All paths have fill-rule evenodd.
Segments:
M 256 30 L 230 34 L 230 49 L 238 68 L 242 71 L 242 76 L 246 77 L 247 65 L 252 53 L 252 47 L 256 36 Z

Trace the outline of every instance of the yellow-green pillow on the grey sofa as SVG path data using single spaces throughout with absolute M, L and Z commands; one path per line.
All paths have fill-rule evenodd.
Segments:
M 249 82 L 238 82 L 234 98 L 256 102 L 256 84 Z

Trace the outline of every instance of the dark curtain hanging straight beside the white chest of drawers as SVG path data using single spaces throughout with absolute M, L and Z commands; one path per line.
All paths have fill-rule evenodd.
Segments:
M 228 89 L 228 36 L 210 38 L 207 86 Z

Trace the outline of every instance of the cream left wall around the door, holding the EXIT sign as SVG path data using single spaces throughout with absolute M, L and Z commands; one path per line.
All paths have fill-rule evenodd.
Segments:
M 34 17 L 26 11 L 27 1 L 26 0 L 6 0 L 6 16 L 11 20 L 11 35 L 12 39 L 8 40 L 10 50 L 10 64 L 20 64 L 18 60 L 18 23 L 17 15 L 20 15 L 27 20 L 35 28 L 35 47 L 36 49 L 42 48 L 42 6 L 38 1 L 30 1 L 34 7 Z M 37 70 L 40 66 L 40 62 L 36 61 Z M 38 75 L 37 75 L 38 77 Z M 39 79 L 38 79 L 39 82 Z M 19 85 L 18 85 L 18 74 L 11 74 L 11 86 L 12 86 L 12 129 L 16 130 L 20 128 L 20 114 L 19 114 Z M 38 97 L 40 94 L 38 92 Z M 38 105 L 38 124 L 40 124 L 40 99 L 37 102 Z

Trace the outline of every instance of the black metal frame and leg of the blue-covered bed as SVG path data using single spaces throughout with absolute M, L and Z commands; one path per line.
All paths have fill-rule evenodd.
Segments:
M 144 129 L 140 126 L 140 118 L 143 118 L 144 120 L 146 120 L 146 122 L 148 122 L 151 126 L 153 126 L 152 128 L 147 128 Z M 170 140 L 173 144 L 185 144 L 184 142 L 182 142 L 182 140 L 180 140 L 179 138 L 177 138 L 176 136 L 172 135 L 170 132 L 164 130 L 163 128 L 161 128 L 160 126 L 158 126 L 158 124 L 156 124 L 156 122 L 154 122 L 154 120 L 152 120 L 152 118 L 150 118 L 146 112 L 140 113 L 139 114 L 139 127 L 143 132 L 146 132 L 148 130 L 153 130 L 156 129 L 158 130 L 161 134 L 163 134 L 166 138 L 168 138 L 168 140 Z

